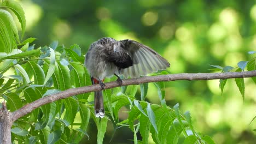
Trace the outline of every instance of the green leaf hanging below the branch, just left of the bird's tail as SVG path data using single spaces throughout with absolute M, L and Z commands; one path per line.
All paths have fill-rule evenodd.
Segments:
M 86 131 L 89 120 L 90 120 L 90 110 L 85 104 L 79 103 L 79 113 L 81 116 L 81 129 Z

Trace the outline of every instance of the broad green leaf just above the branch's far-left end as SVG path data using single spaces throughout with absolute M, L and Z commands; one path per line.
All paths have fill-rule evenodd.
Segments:
M 10 111 L 15 111 L 22 107 L 22 102 L 18 94 L 16 93 L 8 93 L 7 96 L 7 108 Z

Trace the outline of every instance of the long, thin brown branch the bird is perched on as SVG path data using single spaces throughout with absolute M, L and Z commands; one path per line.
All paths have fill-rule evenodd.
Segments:
M 158 81 L 176 81 L 176 80 L 214 80 L 214 79 L 232 79 L 232 78 L 242 78 L 242 77 L 254 77 L 256 76 L 256 70 L 253 71 L 243 71 L 243 72 L 230 72 L 230 73 L 197 73 L 197 74 L 170 74 L 170 75 L 159 75 L 159 76 L 144 76 L 137 79 L 127 79 L 123 80 L 121 86 L 127 85 L 139 85 L 141 83 L 147 82 L 158 82 Z M 105 89 L 119 87 L 118 82 L 108 82 L 106 83 Z M 88 93 L 99 91 L 100 85 L 71 88 L 66 91 L 62 91 L 56 94 L 49 95 L 47 97 L 40 98 L 36 101 L 33 101 L 30 104 L 27 104 L 21 107 L 19 110 L 16 110 L 11 113 L 11 120 L 14 122 L 18 118 L 25 116 L 27 113 L 30 113 L 39 106 L 51 103 L 59 99 L 65 99 L 71 97 L 72 95 Z

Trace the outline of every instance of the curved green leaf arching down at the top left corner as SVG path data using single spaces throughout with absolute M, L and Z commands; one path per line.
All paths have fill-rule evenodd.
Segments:
M 23 37 L 25 33 L 25 28 L 26 28 L 26 19 L 25 19 L 24 10 L 22 9 L 21 5 L 17 1 L 9 1 L 9 0 L 3 1 L 2 5 L 12 10 L 13 13 L 18 17 L 20 21 L 21 29 L 22 29 L 21 37 Z

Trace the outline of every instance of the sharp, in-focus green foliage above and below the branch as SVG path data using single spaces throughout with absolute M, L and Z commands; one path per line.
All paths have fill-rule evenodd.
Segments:
M 79 45 L 58 46 L 57 41 L 54 41 L 49 46 L 35 47 L 32 44 L 35 38 L 20 43 L 18 28 L 11 14 L 18 18 L 23 35 L 26 27 L 24 10 L 19 3 L 10 0 L 3 1 L 0 8 L 0 47 L 4 48 L 0 49 L 0 100 L 7 101 L 10 111 L 68 88 L 91 85 L 90 76 L 83 65 L 83 50 Z M 103 23 L 118 27 L 110 20 Z M 104 29 L 106 33 L 110 30 Z M 237 68 L 214 67 L 225 73 L 243 71 L 246 67 L 247 70 L 255 70 L 255 65 L 254 57 L 248 62 L 239 62 Z M 164 71 L 162 73 L 165 74 Z M 256 78 L 252 79 L 256 83 Z M 226 82 L 220 80 L 222 93 Z M 240 78 L 235 79 L 235 83 L 245 101 L 245 81 Z M 129 127 L 133 132 L 134 143 L 148 143 L 151 138 L 155 143 L 214 143 L 210 136 L 202 135 L 194 129 L 190 112 L 182 113 L 179 104 L 173 107 L 166 104 L 164 82 L 156 82 L 154 86 L 160 104 L 145 100 L 150 90 L 146 83 L 139 88 L 127 86 L 104 91 L 107 117 L 102 119 L 95 117 L 89 93 L 40 106 L 14 123 L 11 129 L 12 140 L 20 143 L 78 143 L 84 136 L 88 139 L 93 136 L 88 132 L 90 119 L 93 119 L 97 126 L 98 143 L 104 141 L 110 121 L 115 130 Z M 139 92 L 140 99 L 137 97 Z M 127 118 L 121 118 L 124 115 L 121 109 L 127 111 Z

